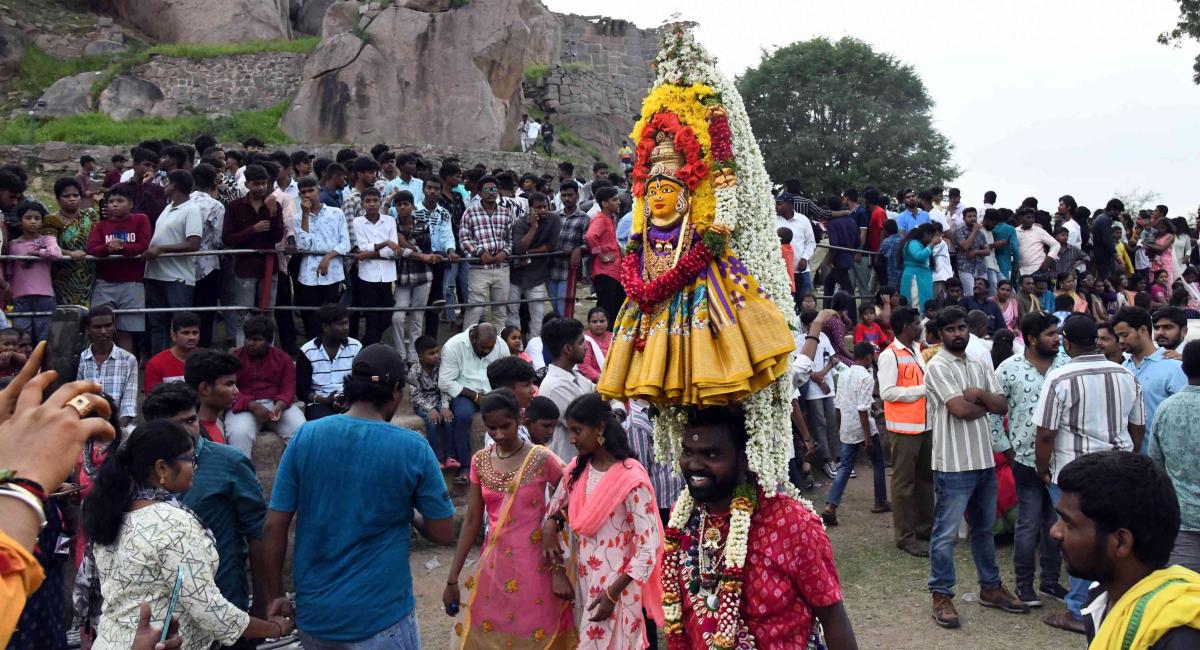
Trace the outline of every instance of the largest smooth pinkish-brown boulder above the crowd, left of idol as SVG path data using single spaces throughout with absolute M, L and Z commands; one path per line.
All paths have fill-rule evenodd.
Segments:
M 511 146 L 524 68 L 547 64 L 559 38 L 554 16 L 538 0 L 480 0 L 432 13 L 392 5 L 365 34 L 365 41 L 326 37 L 308 58 L 281 121 L 288 136 Z

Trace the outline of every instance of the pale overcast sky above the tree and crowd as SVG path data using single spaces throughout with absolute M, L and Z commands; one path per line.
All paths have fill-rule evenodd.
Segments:
M 1133 189 L 1158 193 L 1175 215 L 1200 204 L 1200 43 L 1154 41 L 1175 24 L 1175 0 L 544 1 L 643 28 L 694 20 L 730 76 L 796 41 L 866 41 L 924 80 L 962 169 L 953 185 L 971 205 L 986 189 L 1012 207 L 1070 193 L 1096 209 Z

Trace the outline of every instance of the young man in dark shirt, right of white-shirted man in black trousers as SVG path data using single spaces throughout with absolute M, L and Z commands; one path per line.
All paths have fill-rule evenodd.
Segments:
M 396 192 L 392 204 L 396 209 L 396 233 L 400 239 L 400 263 L 396 265 L 396 294 L 394 303 L 397 308 L 425 307 L 430 301 L 430 287 L 433 282 L 431 264 L 442 260 L 433 254 L 430 239 L 430 222 L 413 219 L 413 193 L 408 189 Z M 415 341 L 425 331 L 424 312 L 394 312 L 391 314 L 391 335 L 396 341 L 400 356 L 413 362 L 419 355 Z

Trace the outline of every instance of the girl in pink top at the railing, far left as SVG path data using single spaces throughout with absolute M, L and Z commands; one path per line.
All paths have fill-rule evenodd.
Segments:
M 10 261 L 6 276 L 12 293 L 13 309 L 17 312 L 53 312 L 58 305 L 54 301 L 54 285 L 50 279 L 50 263 L 60 259 L 59 240 L 54 235 L 42 234 L 42 219 L 46 218 L 46 206 L 37 201 L 24 201 L 17 206 L 17 218 L 20 219 L 20 236 L 8 245 L 10 255 L 36 255 L 47 261 Z M 50 336 L 50 317 L 16 317 L 13 325 L 29 330 L 34 341 L 46 341 Z

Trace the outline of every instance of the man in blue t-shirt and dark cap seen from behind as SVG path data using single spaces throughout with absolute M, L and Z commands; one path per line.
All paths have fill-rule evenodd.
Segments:
M 266 588 L 271 613 L 290 615 L 281 596 L 294 517 L 294 610 L 305 648 L 421 646 L 409 526 L 449 546 L 454 505 L 425 438 L 390 423 L 403 385 L 404 360 L 392 348 L 364 348 L 344 380 L 349 409 L 300 427 L 280 462 L 264 535 Z

